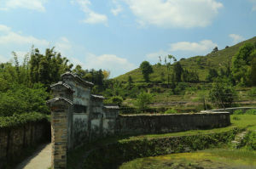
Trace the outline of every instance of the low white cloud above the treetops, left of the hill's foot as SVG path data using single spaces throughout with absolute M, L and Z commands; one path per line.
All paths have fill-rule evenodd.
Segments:
M 81 64 L 79 60 L 76 62 Z M 89 54 L 85 58 L 83 66 L 85 69 L 110 70 L 112 77 L 137 68 L 136 65 L 130 63 L 127 59 L 120 58 L 115 54 L 102 54 L 99 56 Z

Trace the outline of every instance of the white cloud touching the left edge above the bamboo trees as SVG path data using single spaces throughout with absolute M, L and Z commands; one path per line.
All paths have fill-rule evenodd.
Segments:
M 22 45 L 22 44 L 34 44 L 35 46 L 47 46 L 49 42 L 44 39 L 38 39 L 32 36 L 22 36 L 15 31 L 11 31 L 6 25 L 0 25 L 0 44 L 1 45 Z

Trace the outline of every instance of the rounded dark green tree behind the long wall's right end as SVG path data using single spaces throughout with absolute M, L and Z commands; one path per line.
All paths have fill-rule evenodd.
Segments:
M 212 84 L 209 99 L 218 107 L 230 107 L 236 99 L 236 91 L 231 86 L 230 82 L 217 78 Z

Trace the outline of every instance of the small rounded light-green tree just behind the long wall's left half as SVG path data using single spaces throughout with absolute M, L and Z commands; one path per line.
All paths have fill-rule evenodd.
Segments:
M 140 93 L 137 95 L 136 105 L 140 110 L 148 109 L 148 105 L 152 102 L 152 95 L 150 93 Z

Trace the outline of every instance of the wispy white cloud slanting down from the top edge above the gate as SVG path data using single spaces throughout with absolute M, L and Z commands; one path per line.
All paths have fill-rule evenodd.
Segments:
M 76 0 L 71 1 L 72 3 L 78 3 L 80 8 L 83 10 L 84 14 L 86 14 L 86 18 L 83 20 L 84 23 L 87 24 L 105 24 L 108 23 L 108 17 L 105 14 L 98 14 L 92 9 L 89 8 L 91 4 L 89 0 Z

